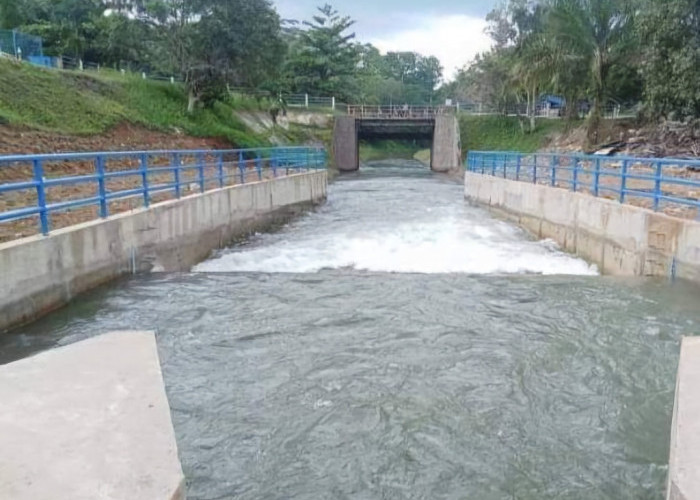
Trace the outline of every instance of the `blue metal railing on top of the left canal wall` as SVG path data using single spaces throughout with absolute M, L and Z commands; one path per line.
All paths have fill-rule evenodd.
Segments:
M 47 235 L 57 212 L 97 207 L 105 218 L 114 202 L 140 198 L 148 207 L 325 166 L 326 152 L 316 147 L 0 156 L 0 224 L 38 217 Z

